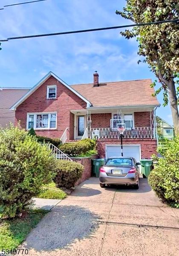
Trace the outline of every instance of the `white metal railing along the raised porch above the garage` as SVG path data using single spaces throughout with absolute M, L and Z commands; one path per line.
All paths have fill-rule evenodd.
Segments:
M 118 139 L 120 134 L 118 131 L 113 131 L 111 128 L 92 128 L 91 139 Z M 155 138 L 154 129 L 151 127 L 136 127 L 124 131 L 125 139 L 142 139 L 142 138 Z

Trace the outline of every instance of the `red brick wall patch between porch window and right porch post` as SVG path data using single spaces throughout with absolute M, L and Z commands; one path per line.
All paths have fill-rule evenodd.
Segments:
M 150 111 L 134 112 L 135 127 L 150 127 Z

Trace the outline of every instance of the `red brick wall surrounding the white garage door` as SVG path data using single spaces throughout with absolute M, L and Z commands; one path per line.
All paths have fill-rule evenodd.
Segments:
M 97 141 L 98 157 L 104 158 L 106 155 L 106 144 L 120 144 L 119 140 L 104 140 Z M 123 144 L 140 144 L 141 145 L 141 158 L 150 158 L 152 154 L 156 153 L 157 142 L 152 139 L 123 139 Z

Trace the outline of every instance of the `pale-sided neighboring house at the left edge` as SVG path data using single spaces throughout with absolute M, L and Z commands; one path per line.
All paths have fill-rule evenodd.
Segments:
M 15 113 L 9 108 L 14 105 L 30 88 L 0 87 L 0 127 L 14 124 Z

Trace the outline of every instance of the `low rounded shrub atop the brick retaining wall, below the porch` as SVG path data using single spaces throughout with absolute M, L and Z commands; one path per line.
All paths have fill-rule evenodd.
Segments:
M 95 149 L 95 140 L 84 139 L 78 142 L 64 143 L 58 146 L 58 148 L 68 154 L 69 156 L 76 157 L 81 154 L 86 154 L 90 150 Z

